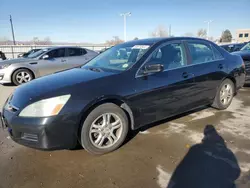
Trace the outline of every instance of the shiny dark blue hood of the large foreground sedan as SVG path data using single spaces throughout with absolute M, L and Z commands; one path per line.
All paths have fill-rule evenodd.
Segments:
M 19 86 L 13 93 L 11 104 L 18 108 L 22 108 L 28 103 L 32 103 L 48 96 L 54 97 L 71 94 L 71 89 L 66 88 L 111 76 L 113 74 L 117 73 L 106 71 L 96 72 L 82 68 L 75 68 L 38 78 Z

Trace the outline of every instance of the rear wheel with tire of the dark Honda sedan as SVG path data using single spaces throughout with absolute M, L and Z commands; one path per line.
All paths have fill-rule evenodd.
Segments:
M 224 110 L 229 107 L 235 94 L 235 85 L 230 79 L 225 79 L 217 90 L 212 107 Z

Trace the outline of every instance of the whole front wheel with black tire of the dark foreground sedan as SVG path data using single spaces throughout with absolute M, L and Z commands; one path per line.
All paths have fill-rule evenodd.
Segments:
M 113 103 L 96 107 L 85 119 L 81 144 L 92 154 L 105 154 L 119 148 L 128 133 L 125 112 Z

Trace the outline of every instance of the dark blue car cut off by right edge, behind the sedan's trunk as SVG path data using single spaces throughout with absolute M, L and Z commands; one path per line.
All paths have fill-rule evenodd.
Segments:
M 232 54 L 242 57 L 246 66 L 246 82 L 250 83 L 250 42 L 243 46 L 240 51 L 233 52 Z

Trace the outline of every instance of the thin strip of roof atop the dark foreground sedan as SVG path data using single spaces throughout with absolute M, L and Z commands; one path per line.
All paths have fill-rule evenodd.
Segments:
M 133 40 L 126 43 L 129 43 L 131 45 L 153 45 L 158 42 L 167 42 L 167 41 L 173 41 L 173 40 L 200 40 L 200 41 L 208 41 L 201 38 L 195 38 L 195 37 L 159 37 L 159 38 L 147 38 L 147 39 L 139 39 L 139 40 Z M 211 41 L 208 41 L 211 42 Z

